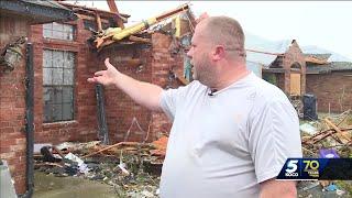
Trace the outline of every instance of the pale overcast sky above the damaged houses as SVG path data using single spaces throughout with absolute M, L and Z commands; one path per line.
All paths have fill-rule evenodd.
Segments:
M 272 41 L 295 38 L 299 45 L 317 45 L 352 59 L 352 1 L 116 1 L 132 23 L 185 2 L 196 15 L 232 16 L 251 34 Z M 101 0 L 85 4 L 109 10 Z

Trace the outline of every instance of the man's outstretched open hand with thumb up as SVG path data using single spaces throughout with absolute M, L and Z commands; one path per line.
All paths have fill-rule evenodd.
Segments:
M 92 78 L 88 78 L 89 82 L 98 82 L 105 86 L 114 85 L 117 78 L 119 77 L 120 72 L 114 68 L 113 65 L 110 64 L 109 58 L 106 58 L 105 64 L 107 66 L 107 70 L 99 70 L 95 73 Z

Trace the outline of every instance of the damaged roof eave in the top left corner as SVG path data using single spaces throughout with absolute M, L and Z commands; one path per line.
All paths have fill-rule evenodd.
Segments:
M 1 0 L 0 11 L 2 14 L 25 18 L 31 24 L 76 20 L 72 10 L 46 0 Z

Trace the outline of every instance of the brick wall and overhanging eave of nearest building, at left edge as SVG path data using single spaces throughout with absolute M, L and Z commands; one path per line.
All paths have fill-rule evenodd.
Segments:
M 32 124 L 30 117 L 26 117 L 31 107 L 25 100 L 30 86 L 25 85 L 31 84 L 26 66 L 31 64 L 32 55 L 25 50 L 25 44 L 14 43 L 20 37 L 31 36 L 30 25 L 74 19 L 74 13 L 58 3 L 25 0 L 1 1 L 0 12 L 0 160 L 9 164 L 16 194 L 30 195 L 33 187 L 33 175 L 30 174 L 33 163 L 26 152 L 31 148 L 29 136 L 33 134 L 28 130 Z M 20 62 L 10 64 L 19 54 L 22 54 Z

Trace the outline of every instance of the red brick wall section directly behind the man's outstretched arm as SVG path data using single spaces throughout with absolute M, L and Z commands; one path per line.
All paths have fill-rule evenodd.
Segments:
M 110 57 L 110 63 L 121 73 L 142 81 L 156 84 L 163 88 L 178 87 L 176 80 L 169 80 L 169 70 L 183 69 L 183 57 L 180 54 L 172 57 L 169 53 L 170 37 L 161 33 L 152 34 L 152 45 L 114 45 L 103 50 L 100 53 L 99 67 L 103 67 L 103 59 Z M 127 65 L 128 59 L 141 59 L 142 69 L 138 72 L 134 66 Z M 98 69 L 98 67 L 97 67 Z M 150 129 L 147 141 L 156 140 L 163 133 L 168 133 L 170 123 L 164 113 L 156 113 L 147 110 L 133 102 L 122 91 L 114 87 L 105 88 L 106 110 L 111 142 L 138 141 L 142 142 L 146 138 Z M 136 119 L 143 132 L 132 125 L 133 118 Z M 131 128 L 132 125 L 132 128 Z M 131 128 L 131 129 L 130 129 Z M 130 133 L 128 131 L 130 129 Z

